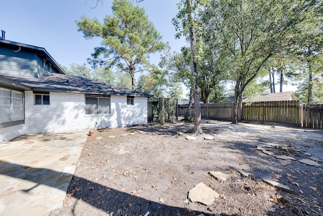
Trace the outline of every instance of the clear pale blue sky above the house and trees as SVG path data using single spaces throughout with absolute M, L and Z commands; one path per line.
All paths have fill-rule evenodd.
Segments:
M 135 3 L 143 7 L 149 20 L 169 42 L 172 51 L 180 51 L 187 45 L 184 37 L 175 39 L 175 27 L 171 23 L 178 12 L 180 0 L 145 0 Z M 87 63 L 94 47 L 100 46 L 100 39 L 85 39 L 77 31 L 76 20 L 82 16 L 103 21 L 105 15 L 112 15 L 112 0 L 103 0 L 103 5 L 91 9 L 92 0 L 10 0 L 2 1 L 0 30 L 6 31 L 6 39 L 36 47 L 46 51 L 61 65 Z M 151 63 L 158 64 L 160 53 L 150 55 Z M 290 91 L 284 89 L 284 91 Z

